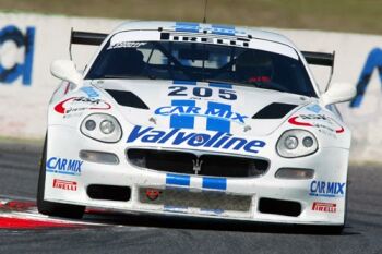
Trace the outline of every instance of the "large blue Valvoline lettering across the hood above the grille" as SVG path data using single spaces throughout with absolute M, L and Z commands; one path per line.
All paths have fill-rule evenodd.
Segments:
M 237 152 L 247 152 L 251 154 L 259 153 L 259 149 L 265 146 L 265 142 L 259 140 L 246 140 L 235 137 L 225 132 L 216 132 L 214 135 L 184 132 L 180 129 L 170 129 L 167 131 L 155 130 L 154 128 L 134 126 L 127 143 L 140 141 L 151 144 L 170 144 L 188 145 L 190 147 L 213 147 L 222 149 L 232 149 Z

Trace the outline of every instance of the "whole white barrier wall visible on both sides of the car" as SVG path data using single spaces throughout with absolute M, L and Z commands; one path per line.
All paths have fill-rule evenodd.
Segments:
M 120 20 L 0 13 L 0 136 L 43 137 L 47 104 L 58 84 L 49 73 L 49 65 L 55 59 L 69 58 L 71 27 L 108 33 L 119 23 Z M 382 36 L 273 31 L 289 37 L 301 50 L 336 51 L 332 83 L 347 82 L 366 87 L 365 95 L 354 101 L 354 107 L 339 105 L 345 121 L 354 131 L 350 159 L 382 162 L 379 148 L 382 145 L 382 114 L 379 113 L 382 109 Z M 79 69 L 84 68 L 94 50 L 94 47 L 73 47 Z M 313 72 L 324 89 L 327 68 L 314 68 Z

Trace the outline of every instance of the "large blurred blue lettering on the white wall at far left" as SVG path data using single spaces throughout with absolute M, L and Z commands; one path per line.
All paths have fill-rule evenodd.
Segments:
M 16 26 L 5 26 L 0 29 L 0 46 L 8 40 L 12 40 L 19 49 L 22 47 L 25 48 L 24 63 L 15 62 L 11 68 L 0 64 L 0 83 L 10 84 L 21 76 L 23 85 L 29 86 L 32 84 L 35 27 L 27 27 L 24 36 Z

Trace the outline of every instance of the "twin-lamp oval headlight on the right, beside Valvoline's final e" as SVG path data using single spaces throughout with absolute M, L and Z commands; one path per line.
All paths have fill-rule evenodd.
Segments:
M 305 130 L 290 130 L 279 137 L 276 149 L 279 156 L 286 158 L 311 155 L 319 148 L 315 136 Z

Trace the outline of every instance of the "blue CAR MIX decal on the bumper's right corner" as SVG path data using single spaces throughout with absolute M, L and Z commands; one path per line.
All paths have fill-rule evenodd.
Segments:
M 310 183 L 311 196 L 324 196 L 324 197 L 343 197 L 345 196 L 346 183 L 341 182 L 325 182 L 325 181 L 312 181 Z

